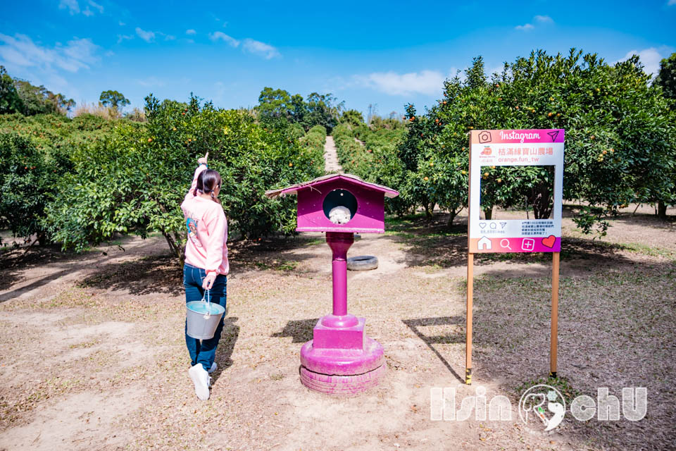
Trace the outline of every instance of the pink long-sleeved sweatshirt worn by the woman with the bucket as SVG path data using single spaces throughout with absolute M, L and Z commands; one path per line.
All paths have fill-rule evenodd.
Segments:
M 197 177 L 203 171 L 206 171 L 204 164 L 195 170 L 190 190 L 181 204 L 188 231 L 185 262 L 203 268 L 207 273 L 227 274 L 230 265 L 227 263 L 227 220 L 223 207 L 199 194 L 194 195 Z

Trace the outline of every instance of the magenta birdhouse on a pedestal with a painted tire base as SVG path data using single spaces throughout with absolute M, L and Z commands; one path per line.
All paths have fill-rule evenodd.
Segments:
M 333 311 L 301 348 L 301 383 L 323 393 L 359 393 L 380 381 L 386 366 L 379 342 L 364 333 L 366 320 L 347 313 L 347 251 L 355 233 L 384 233 L 384 198 L 391 188 L 350 174 L 330 174 L 281 190 L 298 195 L 299 232 L 325 232 L 333 252 Z

